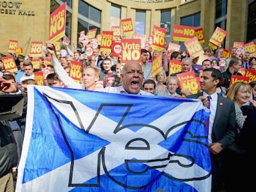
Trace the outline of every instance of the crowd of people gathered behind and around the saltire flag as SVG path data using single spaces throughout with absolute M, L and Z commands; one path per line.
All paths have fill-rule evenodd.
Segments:
M 212 166 L 211 191 L 220 191 L 223 188 L 227 192 L 249 189 L 253 185 L 254 178 L 244 175 L 247 175 L 247 170 L 255 170 L 252 162 L 252 150 L 254 149 L 252 135 L 255 133 L 255 128 L 252 122 L 256 117 L 256 82 L 238 81 L 231 88 L 229 84 L 232 75 L 242 75 L 239 73 L 241 67 L 246 70 L 256 70 L 256 57 L 250 56 L 250 53 L 246 51 L 242 55 L 237 55 L 236 48 L 231 48 L 231 57 L 226 59 L 224 65 L 220 65 L 223 48 L 213 50 L 207 47 L 203 50 L 205 55 L 210 56 L 211 59 L 205 59 L 202 64 L 197 64 L 198 58 L 190 57 L 187 52 L 173 51 L 168 58 L 167 49 L 167 46 L 161 52 L 141 49 L 140 62 L 129 61 L 122 64 L 121 55 L 112 57 L 109 52 L 100 53 L 99 48 L 93 49 L 93 56 L 90 57 L 83 49 L 74 52 L 69 50 L 66 56 L 58 56 L 54 45 L 48 42 L 44 57 L 40 57 L 40 70 L 45 75 L 45 86 L 200 99 L 203 106 L 210 110 L 210 117 L 205 124 L 208 129 Z M 158 54 L 162 54 L 162 67 L 160 72 L 152 76 L 152 59 Z M 51 64 L 46 64 L 46 57 L 49 57 Z M 8 72 L 4 69 L 0 58 L 0 96 L 23 94 L 26 97 L 27 86 L 36 85 L 33 58 L 14 56 L 14 59 L 19 70 Z M 69 76 L 69 66 L 72 60 L 83 64 L 80 83 Z M 172 60 L 181 61 L 181 72 L 170 75 L 169 61 Z M 177 74 L 191 71 L 195 73 L 195 77 L 200 77 L 200 90 L 196 94 L 179 88 L 181 82 Z M 18 160 L 13 161 L 11 167 L 2 169 L 3 165 L 0 166 L 0 191 L 9 189 L 12 191 L 15 186 L 12 173 L 17 172 L 19 165 L 23 143 L 20 138 L 23 138 L 25 131 L 25 115 L 26 107 L 20 119 L 0 121 L 0 130 L 8 127 L 9 135 L 10 132 L 15 132 L 14 137 L 17 141 L 14 142 L 12 138 L 9 143 L 17 144 L 18 154 Z M 9 144 L 2 143 L 4 141 L 2 137 L 4 135 L 1 133 L 1 150 L 5 144 Z

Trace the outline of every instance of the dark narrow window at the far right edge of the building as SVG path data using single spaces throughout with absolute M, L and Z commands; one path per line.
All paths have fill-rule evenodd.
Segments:
M 256 1 L 248 5 L 247 42 L 256 39 Z

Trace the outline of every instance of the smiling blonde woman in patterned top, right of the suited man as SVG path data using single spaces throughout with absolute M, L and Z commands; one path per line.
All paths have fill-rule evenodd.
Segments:
M 239 81 L 234 83 L 228 90 L 227 98 L 234 101 L 236 109 L 236 130 L 237 134 L 242 130 L 245 117 L 242 114 L 241 107 L 243 104 L 249 101 L 252 87 L 245 82 Z M 247 151 L 239 148 L 236 144 L 236 140 L 226 151 L 226 173 L 225 173 L 225 186 L 226 191 L 241 191 L 244 186 L 247 185 L 247 179 L 242 178 L 241 175 L 245 175 L 247 172 L 246 167 Z

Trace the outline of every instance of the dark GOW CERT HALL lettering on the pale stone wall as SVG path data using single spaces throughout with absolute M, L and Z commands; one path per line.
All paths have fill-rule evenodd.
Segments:
M 35 16 L 33 10 L 23 10 L 22 2 L 0 1 L 0 14 Z

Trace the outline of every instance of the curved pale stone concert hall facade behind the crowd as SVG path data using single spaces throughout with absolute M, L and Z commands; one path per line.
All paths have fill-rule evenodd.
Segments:
M 9 40 L 17 40 L 24 55 L 31 41 L 45 43 L 49 15 L 63 2 L 67 2 L 66 34 L 71 44 L 77 43 L 80 30 L 96 27 L 101 33 L 126 18 L 132 18 L 135 30 L 147 36 L 154 25 L 168 28 L 166 41 L 171 41 L 174 25 L 202 27 L 203 47 L 216 26 L 228 31 L 223 45 L 226 49 L 234 41 L 256 40 L 255 0 L 12 0 L 0 1 L 0 52 L 8 54 Z

